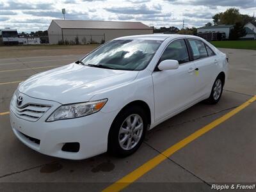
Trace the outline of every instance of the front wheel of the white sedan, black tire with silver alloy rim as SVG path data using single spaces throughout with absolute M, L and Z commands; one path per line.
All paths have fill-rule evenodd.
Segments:
M 129 119 L 131 122 L 130 125 Z M 132 123 L 134 123 L 136 119 L 137 122 L 133 125 Z M 138 150 L 143 142 L 147 126 L 148 120 L 143 108 L 140 106 L 129 106 L 122 109 L 113 121 L 109 131 L 108 152 L 118 157 L 130 156 Z M 122 129 L 122 127 L 124 127 L 124 129 Z M 130 142 L 130 144 L 128 142 Z

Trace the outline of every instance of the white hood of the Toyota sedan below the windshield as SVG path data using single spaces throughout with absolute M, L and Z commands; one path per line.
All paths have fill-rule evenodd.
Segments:
M 137 74 L 138 71 L 86 67 L 72 63 L 29 77 L 20 84 L 19 92 L 61 104 L 84 102 L 96 93 L 134 80 Z

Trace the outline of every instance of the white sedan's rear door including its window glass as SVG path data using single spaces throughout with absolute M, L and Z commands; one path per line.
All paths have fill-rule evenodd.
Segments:
M 218 60 L 211 48 L 201 40 L 189 38 L 188 43 L 196 67 L 195 95 L 198 98 L 204 97 L 211 92 Z

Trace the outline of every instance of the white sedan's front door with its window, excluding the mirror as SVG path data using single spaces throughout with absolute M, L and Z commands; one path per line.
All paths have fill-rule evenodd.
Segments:
M 195 64 L 189 61 L 184 39 L 175 40 L 166 47 L 159 62 L 164 60 L 179 61 L 179 68 L 152 74 L 156 121 L 195 100 Z

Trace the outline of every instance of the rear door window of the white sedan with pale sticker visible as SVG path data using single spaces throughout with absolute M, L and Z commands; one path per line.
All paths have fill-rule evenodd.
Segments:
M 206 58 L 208 56 L 203 42 L 196 39 L 188 39 L 188 42 L 192 49 L 194 60 Z

